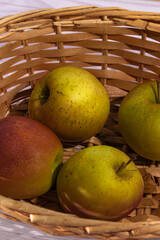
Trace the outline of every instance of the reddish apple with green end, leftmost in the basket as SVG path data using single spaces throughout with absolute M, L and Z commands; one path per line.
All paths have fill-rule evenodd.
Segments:
M 0 194 L 26 199 L 47 192 L 62 166 L 59 138 L 42 123 L 22 116 L 0 120 Z

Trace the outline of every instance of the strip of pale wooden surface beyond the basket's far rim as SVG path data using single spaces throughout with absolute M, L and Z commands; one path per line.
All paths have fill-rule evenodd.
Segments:
M 159 0 L 0 0 L 0 17 L 37 8 L 61 8 L 80 5 L 123 7 L 134 11 L 160 12 Z

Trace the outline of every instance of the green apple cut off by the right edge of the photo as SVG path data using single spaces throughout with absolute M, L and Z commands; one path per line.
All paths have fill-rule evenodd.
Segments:
M 135 152 L 144 158 L 160 161 L 157 86 L 156 81 L 147 81 L 132 89 L 120 105 L 118 120 L 122 136 Z

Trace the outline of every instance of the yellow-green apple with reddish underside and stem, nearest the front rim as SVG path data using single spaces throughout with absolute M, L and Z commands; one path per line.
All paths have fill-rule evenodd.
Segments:
M 127 165 L 128 161 L 124 152 L 105 145 L 75 153 L 57 178 L 63 209 L 84 218 L 119 220 L 127 216 L 139 204 L 144 189 L 139 170 L 133 162 Z

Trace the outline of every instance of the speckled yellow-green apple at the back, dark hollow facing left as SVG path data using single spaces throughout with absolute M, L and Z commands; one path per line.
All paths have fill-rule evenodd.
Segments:
M 41 79 L 28 106 L 31 118 L 69 141 L 97 134 L 109 110 L 109 98 L 99 80 L 87 70 L 71 66 L 57 68 Z

